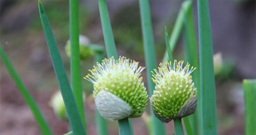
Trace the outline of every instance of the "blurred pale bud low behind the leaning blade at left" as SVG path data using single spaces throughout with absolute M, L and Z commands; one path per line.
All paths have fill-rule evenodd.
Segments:
M 53 108 L 54 113 L 60 118 L 60 119 L 67 119 L 66 114 L 66 107 L 64 105 L 64 101 L 62 99 L 62 94 L 60 91 L 57 91 L 52 96 L 52 99 L 50 101 L 50 106 Z

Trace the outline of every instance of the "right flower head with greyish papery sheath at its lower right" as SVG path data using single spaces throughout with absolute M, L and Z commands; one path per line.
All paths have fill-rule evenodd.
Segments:
M 169 122 L 174 118 L 182 118 L 194 113 L 197 106 L 197 88 L 194 87 L 190 75 L 196 68 L 183 61 L 175 60 L 160 63 L 158 70 L 154 69 L 152 80 L 156 84 L 150 98 L 154 114 L 162 122 Z

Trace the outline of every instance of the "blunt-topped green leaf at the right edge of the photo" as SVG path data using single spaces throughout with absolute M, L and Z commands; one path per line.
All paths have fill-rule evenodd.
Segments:
M 245 79 L 244 103 L 245 103 L 245 135 L 256 135 L 256 79 Z

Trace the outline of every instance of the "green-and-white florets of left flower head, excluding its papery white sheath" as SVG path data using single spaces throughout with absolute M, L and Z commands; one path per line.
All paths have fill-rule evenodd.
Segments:
M 147 105 L 147 91 L 142 82 L 141 72 L 145 67 L 138 67 L 138 62 L 126 57 L 105 58 L 97 63 L 91 73 L 84 78 L 94 86 L 93 98 L 104 90 L 124 100 L 132 109 L 129 117 L 137 117 L 144 112 Z

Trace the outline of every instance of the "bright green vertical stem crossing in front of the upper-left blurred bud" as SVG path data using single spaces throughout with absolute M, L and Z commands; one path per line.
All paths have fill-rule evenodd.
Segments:
M 85 115 L 83 109 L 83 91 L 81 84 L 80 53 L 79 53 L 79 23 L 78 23 L 78 0 L 69 0 L 69 38 L 71 46 L 70 69 L 71 86 L 76 100 L 79 115 L 83 127 L 86 130 Z

